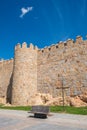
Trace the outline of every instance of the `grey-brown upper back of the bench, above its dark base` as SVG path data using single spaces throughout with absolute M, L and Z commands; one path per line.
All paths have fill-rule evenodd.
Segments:
M 49 113 L 49 106 L 32 106 L 32 112 L 41 112 L 41 113 Z

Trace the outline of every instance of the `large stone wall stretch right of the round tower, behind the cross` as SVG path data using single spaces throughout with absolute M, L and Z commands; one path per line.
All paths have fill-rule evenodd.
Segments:
M 38 51 L 38 92 L 53 97 L 75 96 L 87 91 L 87 40 L 78 36 Z

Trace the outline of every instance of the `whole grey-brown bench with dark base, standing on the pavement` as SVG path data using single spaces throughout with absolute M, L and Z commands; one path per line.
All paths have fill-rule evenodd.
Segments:
M 49 106 L 32 106 L 30 113 L 34 113 L 34 117 L 36 118 L 47 118 L 49 114 Z

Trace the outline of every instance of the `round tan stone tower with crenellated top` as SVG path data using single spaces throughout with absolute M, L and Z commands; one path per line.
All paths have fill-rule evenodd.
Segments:
M 32 44 L 27 47 L 15 47 L 12 104 L 28 105 L 32 95 L 37 92 L 37 48 Z

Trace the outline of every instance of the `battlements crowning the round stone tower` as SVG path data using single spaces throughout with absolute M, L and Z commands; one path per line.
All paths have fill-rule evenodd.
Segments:
M 15 50 L 20 50 L 20 49 L 38 50 L 38 47 L 34 46 L 32 43 L 30 43 L 30 45 L 28 45 L 26 42 L 23 42 L 22 45 L 20 43 L 18 43 L 15 46 Z

